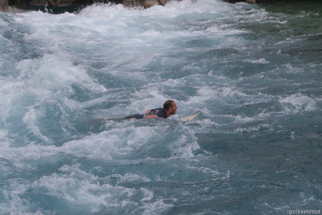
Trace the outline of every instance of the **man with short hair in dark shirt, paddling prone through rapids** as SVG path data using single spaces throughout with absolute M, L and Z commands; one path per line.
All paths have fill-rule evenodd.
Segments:
M 171 115 L 175 115 L 177 112 L 177 105 L 172 100 L 167 100 L 163 104 L 163 108 L 155 108 L 147 110 L 144 114 L 133 114 L 125 117 L 124 119 L 152 119 L 152 118 L 165 118 L 167 119 Z

